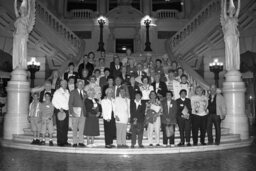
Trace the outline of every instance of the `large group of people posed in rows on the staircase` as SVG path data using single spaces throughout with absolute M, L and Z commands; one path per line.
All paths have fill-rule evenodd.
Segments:
M 68 66 L 63 77 L 54 71 L 43 90 L 33 91 L 29 107 L 34 133 L 32 144 L 44 145 L 48 131 L 49 145 L 53 145 L 56 125 L 57 145 L 71 146 L 67 135 L 72 125 L 72 146 L 94 147 L 94 137 L 100 135 L 99 118 L 104 122 L 106 148 L 115 146 L 114 139 L 118 148 L 127 148 L 127 130 L 131 132 L 131 148 L 137 139 L 138 146 L 144 147 L 145 130 L 149 146 L 174 146 L 177 125 L 178 146 L 192 145 L 191 130 L 193 145 L 198 145 L 199 130 L 201 145 L 206 145 L 206 132 L 208 144 L 220 144 L 220 123 L 226 116 L 223 96 L 215 85 L 210 86 L 209 93 L 200 86 L 194 87 L 183 68 L 175 61 L 170 62 L 167 55 L 155 61 L 148 56 L 143 63 L 138 63 L 128 49 L 122 60 L 114 56 L 110 67 L 106 67 L 104 52 L 98 64 L 95 64 L 95 54 L 90 52 L 78 66 L 78 72 L 73 63 Z

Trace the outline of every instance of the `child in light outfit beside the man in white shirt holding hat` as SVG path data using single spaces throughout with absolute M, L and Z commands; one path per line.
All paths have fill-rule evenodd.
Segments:
M 41 133 L 42 133 L 42 141 L 40 142 L 41 145 L 45 145 L 45 134 L 46 129 L 49 132 L 49 145 L 53 146 L 52 142 L 52 134 L 53 134 L 53 122 L 52 122 L 52 116 L 53 116 L 54 107 L 51 103 L 51 94 L 45 93 L 45 102 L 40 104 L 40 118 L 42 119 L 42 127 L 41 127 Z

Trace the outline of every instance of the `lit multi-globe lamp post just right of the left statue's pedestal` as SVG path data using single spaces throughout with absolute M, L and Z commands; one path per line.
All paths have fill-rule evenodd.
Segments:
M 35 73 L 40 70 L 40 62 L 36 61 L 35 57 L 32 57 L 30 61 L 27 62 L 28 71 L 30 72 L 31 84 L 30 87 L 33 88 L 35 85 Z

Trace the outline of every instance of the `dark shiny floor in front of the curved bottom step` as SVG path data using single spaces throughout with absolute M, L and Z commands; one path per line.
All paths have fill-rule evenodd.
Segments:
M 0 147 L 0 170 L 255 171 L 256 146 L 235 150 L 168 155 L 64 154 Z

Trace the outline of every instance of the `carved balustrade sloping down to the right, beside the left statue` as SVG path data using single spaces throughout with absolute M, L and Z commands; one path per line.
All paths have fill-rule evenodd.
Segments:
M 36 1 L 36 15 L 48 24 L 53 30 L 62 35 L 76 48 L 81 47 L 81 39 L 52 14 L 40 1 Z

